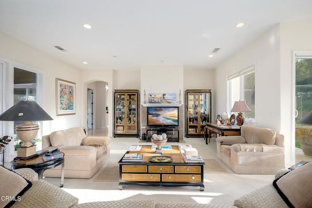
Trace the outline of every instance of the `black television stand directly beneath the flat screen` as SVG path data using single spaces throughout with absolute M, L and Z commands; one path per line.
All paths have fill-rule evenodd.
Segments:
M 168 142 L 179 142 L 179 128 L 178 127 L 163 127 L 163 126 L 146 126 L 146 142 L 151 142 L 153 134 L 161 135 L 167 134 Z

